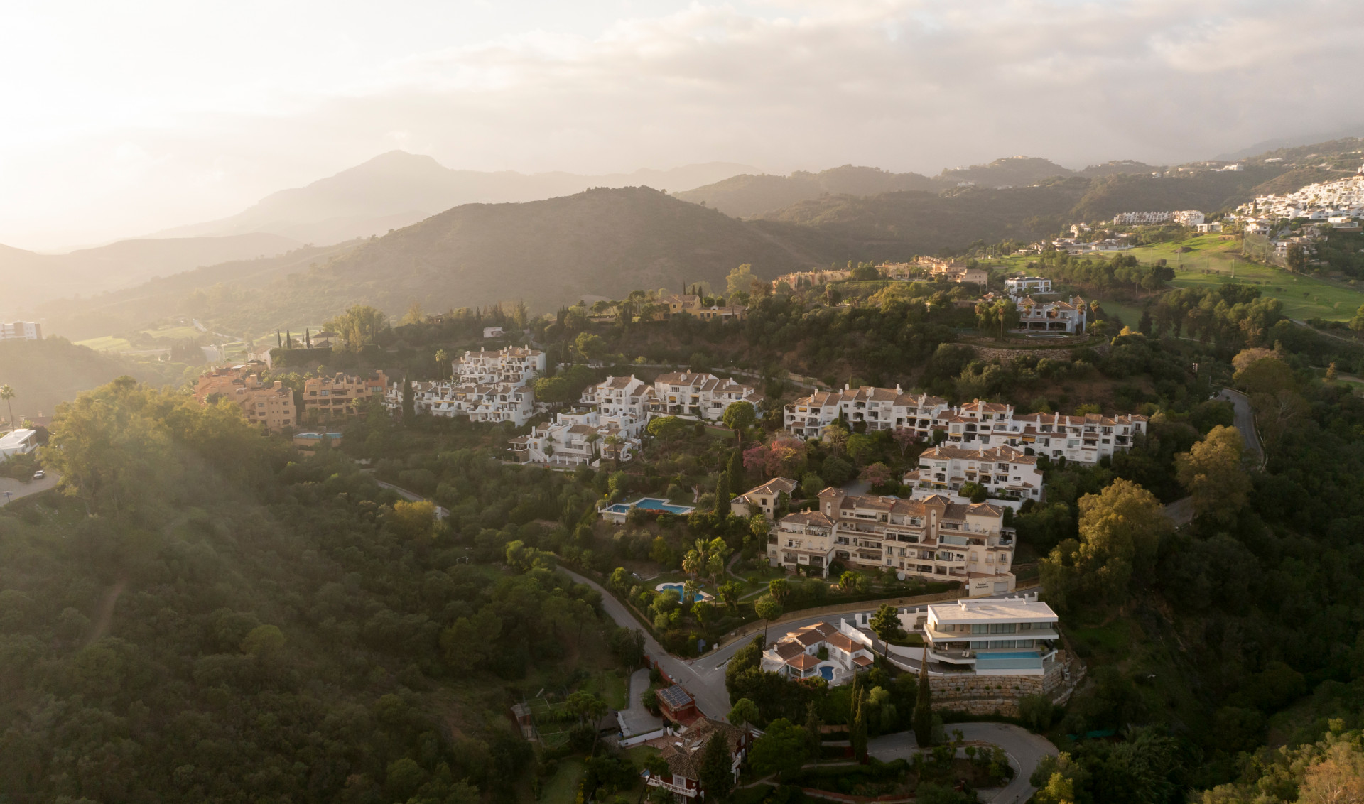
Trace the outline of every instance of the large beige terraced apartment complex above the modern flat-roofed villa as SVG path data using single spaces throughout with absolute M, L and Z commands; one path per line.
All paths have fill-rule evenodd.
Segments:
M 768 536 L 768 563 L 828 576 L 829 564 L 895 570 L 928 581 L 960 582 L 971 597 L 1012 591 L 1015 533 L 1004 508 L 820 492 L 818 508 L 790 514 Z

